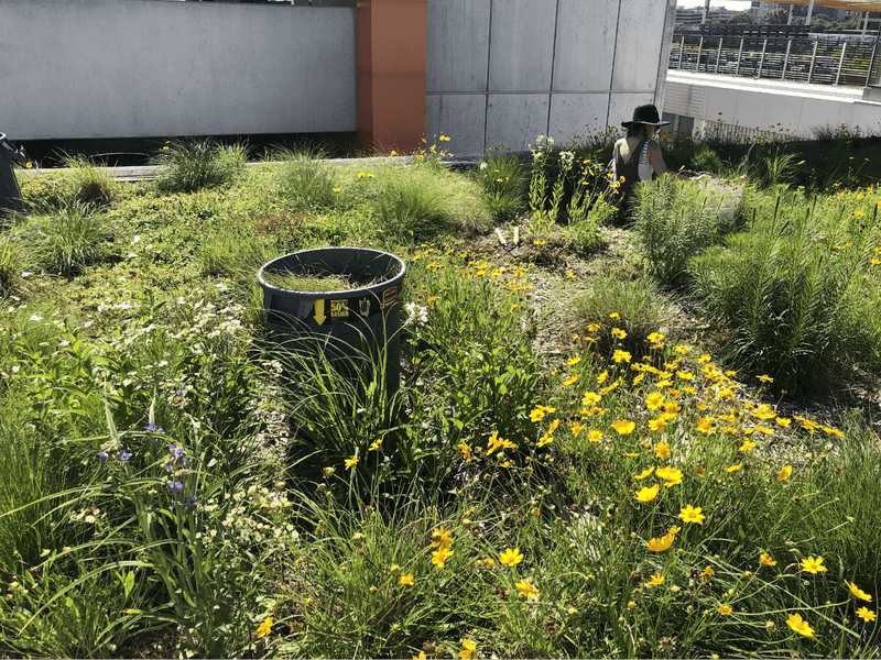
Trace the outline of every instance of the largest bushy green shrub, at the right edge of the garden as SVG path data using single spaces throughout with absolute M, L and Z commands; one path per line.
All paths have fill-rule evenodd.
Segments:
M 764 198 L 748 230 L 694 260 L 709 318 L 729 336 L 725 356 L 779 387 L 811 389 L 834 359 L 871 352 L 863 276 L 871 231 L 802 194 Z

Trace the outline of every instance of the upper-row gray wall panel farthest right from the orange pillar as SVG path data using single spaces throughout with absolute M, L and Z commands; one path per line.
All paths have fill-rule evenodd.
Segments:
M 619 16 L 611 90 L 654 95 L 659 62 L 667 46 L 662 43 L 666 2 L 621 0 Z

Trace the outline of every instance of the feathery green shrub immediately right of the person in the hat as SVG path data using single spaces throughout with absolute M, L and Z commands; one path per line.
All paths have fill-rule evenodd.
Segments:
M 649 273 L 664 285 L 681 284 L 688 260 L 718 241 L 733 213 L 720 213 L 724 195 L 707 186 L 661 177 L 634 189 L 635 242 Z

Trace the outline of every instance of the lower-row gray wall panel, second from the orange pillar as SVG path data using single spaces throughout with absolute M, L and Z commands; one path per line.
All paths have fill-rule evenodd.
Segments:
M 548 94 L 494 94 L 487 103 L 487 147 L 525 151 L 547 135 Z

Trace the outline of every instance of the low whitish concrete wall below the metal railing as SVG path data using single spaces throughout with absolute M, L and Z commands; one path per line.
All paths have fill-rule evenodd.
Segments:
M 881 99 L 861 88 L 753 80 L 710 74 L 670 72 L 663 111 L 692 117 L 694 128 L 721 121 L 729 127 L 813 138 L 815 129 L 861 129 L 881 133 Z

